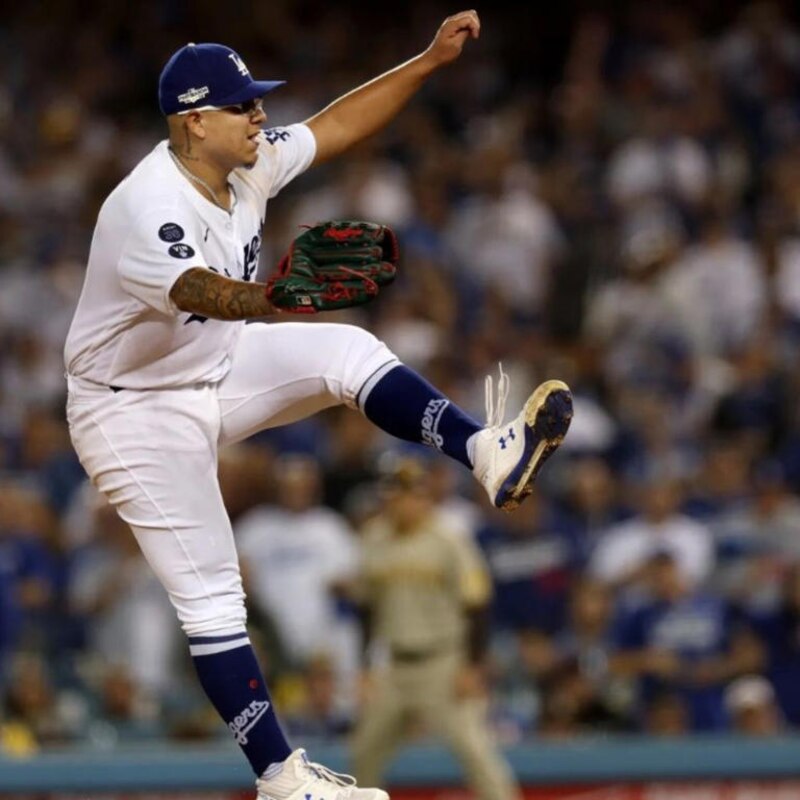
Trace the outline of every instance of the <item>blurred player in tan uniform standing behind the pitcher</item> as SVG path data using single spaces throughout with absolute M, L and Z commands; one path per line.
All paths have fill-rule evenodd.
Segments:
M 377 783 L 416 733 L 441 737 L 481 800 L 519 797 L 486 720 L 489 573 L 474 542 L 438 513 L 422 462 L 387 466 L 383 507 L 364 528 L 358 583 L 371 670 L 353 741 L 359 780 Z

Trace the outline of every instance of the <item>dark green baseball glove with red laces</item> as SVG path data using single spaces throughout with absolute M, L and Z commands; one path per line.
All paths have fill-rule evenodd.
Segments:
M 361 305 L 394 280 L 398 255 L 397 237 L 385 225 L 321 222 L 292 242 L 267 281 L 267 299 L 297 314 Z

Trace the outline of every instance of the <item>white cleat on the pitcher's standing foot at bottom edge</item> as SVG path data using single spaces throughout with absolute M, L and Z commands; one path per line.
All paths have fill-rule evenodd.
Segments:
M 265 770 L 256 787 L 256 800 L 389 800 L 381 789 L 359 789 L 350 775 L 314 764 L 302 748 Z

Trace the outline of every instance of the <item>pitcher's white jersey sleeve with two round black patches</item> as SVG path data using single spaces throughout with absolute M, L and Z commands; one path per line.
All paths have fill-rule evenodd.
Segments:
M 117 272 L 128 294 L 175 315 L 178 309 L 169 297 L 173 284 L 187 269 L 207 266 L 192 220 L 179 209 L 165 207 L 137 217 L 122 245 Z

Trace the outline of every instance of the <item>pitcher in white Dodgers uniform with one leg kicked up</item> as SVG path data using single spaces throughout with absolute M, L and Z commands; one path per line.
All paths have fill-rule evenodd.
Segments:
M 180 48 L 158 87 L 168 138 L 111 192 L 94 230 L 65 349 L 72 441 L 165 586 L 260 800 L 388 795 L 311 763 L 281 731 L 247 636 L 218 448 L 344 403 L 461 461 L 510 509 L 569 425 L 559 381 L 504 422 L 501 378 L 483 426 L 358 327 L 244 324 L 363 303 L 391 281 L 396 240 L 368 223 L 315 226 L 254 281 L 267 201 L 382 128 L 479 30 L 474 11 L 449 17 L 418 56 L 266 130 L 263 98 L 280 81 L 254 80 L 221 44 Z

